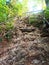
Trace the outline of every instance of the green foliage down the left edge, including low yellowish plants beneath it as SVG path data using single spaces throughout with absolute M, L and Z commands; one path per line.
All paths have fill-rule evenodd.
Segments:
M 6 30 L 13 28 L 13 22 L 11 22 L 11 18 L 13 17 L 14 13 L 6 5 L 6 0 L 0 0 L 0 32 L 5 28 Z M 5 24 L 5 25 L 4 25 Z M 2 26 L 4 25 L 4 27 Z

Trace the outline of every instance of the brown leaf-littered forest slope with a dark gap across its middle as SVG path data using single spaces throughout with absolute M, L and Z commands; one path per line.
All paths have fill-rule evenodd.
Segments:
M 0 43 L 0 65 L 49 65 L 49 36 L 24 21 L 14 26 L 11 40 Z

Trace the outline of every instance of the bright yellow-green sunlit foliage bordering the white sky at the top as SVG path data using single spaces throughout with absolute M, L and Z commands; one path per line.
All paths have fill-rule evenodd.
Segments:
M 22 16 L 23 13 L 27 11 L 27 1 L 28 0 L 22 0 L 22 2 L 20 2 L 19 0 L 11 0 L 9 6 L 15 15 Z

